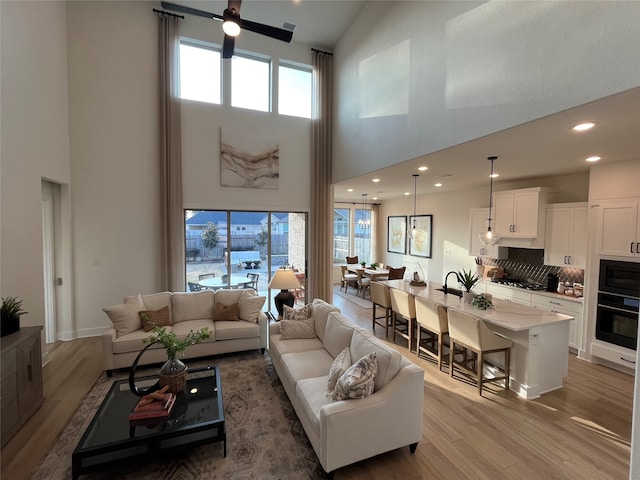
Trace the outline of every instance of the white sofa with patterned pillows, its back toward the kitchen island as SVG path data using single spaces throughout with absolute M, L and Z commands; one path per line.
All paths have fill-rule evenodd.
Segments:
M 403 446 L 411 452 L 422 438 L 423 370 L 357 327 L 340 311 L 313 301 L 316 338 L 282 339 L 271 324 L 269 355 L 322 468 L 337 468 Z M 352 363 L 377 353 L 373 394 L 334 401 L 327 395 L 334 358 L 349 347 Z

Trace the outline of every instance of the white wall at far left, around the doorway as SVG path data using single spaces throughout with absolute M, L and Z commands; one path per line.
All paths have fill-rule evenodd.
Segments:
M 2 296 L 44 325 L 41 180 L 70 182 L 66 4 L 0 2 L 0 17 Z

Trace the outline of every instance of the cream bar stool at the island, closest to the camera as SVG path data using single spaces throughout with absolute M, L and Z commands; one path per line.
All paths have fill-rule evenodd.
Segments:
M 464 373 L 475 375 L 478 383 L 478 395 L 482 395 L 482 385 L 484 383 L 498 380 L 504 380 L 504 388 L 509 390 L 509 360 L 513 342 L 491 331 L 482 319 L 474 315 L 450 308 L 448 309 L 447 317 L 449 319 L 449 375 L 453 377 L 454 368 L 458 368 Z M 455 361 L 456 346 L 471 351 L 473 355 L 471 368 L 466 354 L 462 362 Z M 486 360 L 486 355 L 500 352 L 504 353 L 504 365 L 502 367 Z M 493 367 L 499 375 L 485 377 L 485 364 Z

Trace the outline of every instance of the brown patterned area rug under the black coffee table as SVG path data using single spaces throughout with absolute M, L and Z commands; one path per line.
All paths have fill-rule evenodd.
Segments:
M 232 480 L 324 479 L 318 458 L 293 406 L 273 369 L 268 353 L 250 351 L 211 357 L 189 365 L 218 365 L 227 429 L 227 457 L 223 443 L 194 447 L 188 454 L 164 455 L 149 461 L 124 461 L 122 466 L 84 475 L 83 480 Z M 152 369 L 154 367 L 151 367 Z M 157 370 L 157 367 L 155 367 Z M 143 376 L 146 370 L 136 376 Z M 152 374 L 154 370 L 147 371 Z M 56 441 L 33 479 L 71 478 L 71 453 L 114 380 L 126 372 L 104 373 Z

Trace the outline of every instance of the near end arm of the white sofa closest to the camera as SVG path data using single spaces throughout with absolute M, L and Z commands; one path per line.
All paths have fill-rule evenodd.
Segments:
M 406 365 L 373 395 L 320 409 L 320 459 L 330 472 L 422 438 L 424 371 Z

